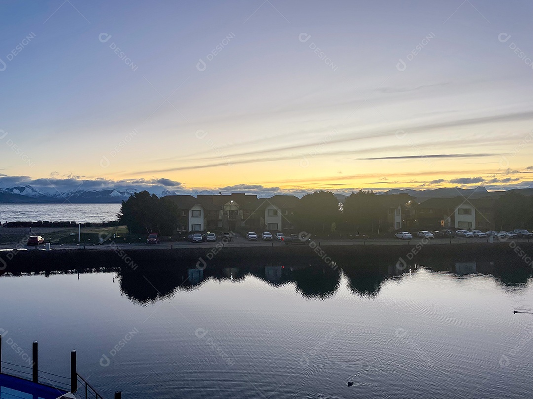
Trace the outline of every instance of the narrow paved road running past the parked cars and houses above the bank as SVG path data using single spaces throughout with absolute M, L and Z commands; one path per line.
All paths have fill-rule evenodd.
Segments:
M 515 242 L 518 243 L 527 243 L 527 242 L 533 242 L 533 240 L 527 240 L 527 239 L 508 239 L 506 242 Z M 421 238 L 413 238 L 411 240 L 400 240 L 400 239 L 384 239 L 384 238 L 376 238 L 376 239 L 344 239 L 344 240 L 328 240 L 328 239 L 320 239 L 316 238 L 313 240 L 313 242 L 316 245 L 319 246 L 328 246 L 328 245 L 416 245 L 416 244 L 424 244 L 424 245 L 450 245 L 450 244 L 467 244 L 467 243 L 486 243 L 487 245 L 490 245 L 488 243 L 487 238 L 452 238 L 451 240 L 448 238 L 435 238 L 432 240 L 429 240 L 427 243 L 422 243 Z M 501 243 L 500 240 L 495 239 L 494 243 Z M 505 241 L 503 242 L 505 243 Z M 52 250 L 79 250 L 79 249 L 85 249 L 85 250 L 98 250 L 98 251 L 106 251 L 106 250 L 113 250 L 115 248 L 115 245 L 120 248 L 131 248 L 135 250 L 168 250 L 169 248 L 213 248 L 215 245 L 220 245 L 220 240 L 215 243 L 189 243 L 189 242 L 173 242 L 173 243 L 166 243 L 163 242 L 161 244 L 157 245 L 146 245 L 146 244 L 127 244 L 127 243 L 120 243 L 120 240 L 117 239 L 114 244 L 62 244 L 62 245 L 51 245 Z M 235 240 L 233 242 L 224 243 L 223 244 L 226 247 L 252 247 L 252 246 L 285 246 L 284 243 L 280 242 L 263 242 L 261 240 L 259 241 L 247 241 L 246 239 L 242 237 L 235 237 Z M 314 246 L 314 245 L 313 245 Z M 41 245 L 38 247 L 30 246 L 27 247 L 26 245 L 17 244 L 17 243 L 11 243 L 11 244 L 0 244 L 0 251 L 10 251 L 14 248 L 23 249 L 23 250 L 45 250 L 45 246 Z

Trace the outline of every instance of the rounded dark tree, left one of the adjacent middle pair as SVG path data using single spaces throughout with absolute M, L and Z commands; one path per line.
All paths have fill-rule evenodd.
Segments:
M 311 233 L 329 232 L 340 217 L 338 201 L 330 191 L 305 194 L 294 212 L 296 224 Z

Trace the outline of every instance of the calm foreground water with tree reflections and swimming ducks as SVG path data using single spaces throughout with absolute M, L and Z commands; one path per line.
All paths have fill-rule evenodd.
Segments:
M 39 369 L 68 375 L 76 349 L 107 397 L 531 397 L 533 314 L 512 312 L 533 307 L 530 270 L 439 269 L 4 276 L 0 328 L 38 340 Z

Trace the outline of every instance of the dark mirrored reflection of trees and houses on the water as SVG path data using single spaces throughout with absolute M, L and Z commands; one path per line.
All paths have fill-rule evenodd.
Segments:
M 303 262 L 227 262 L 199 270 L 195 264 L 156 264 L 152 267 L 139 267 L 137 270 L 118 272 L 122 292 L 133 302 L 139 304 L 153 303 L 172 297 L 176 290 L 193 290 L 202 287 L 209 279 L 218 281 L 242 281 L 252 275 L 266 284 L 279 287 L 294 284 L 296 292 L 310 299 L 324 299 L 332 296 L 340 284 L 340 270 L 349 280 L 348 287 L 358 295 L 376 296 L 383 282 L 389 278 L 399 277 L 413 268 L 408 264 L 399 269 L 397 260 L 349 259 L 340 260 L 337 270 L 320 264 Z M 526 265 L 527 266 L 527 265 Z M 457 272 L 455 260 L 441 260 L 435 264 L 426 263 L 425 268 L 435 271 Z M 463 270 L 459 268 L 459 271 Z M 525 284 L 531 277 L 531 270 L 524 264 L 511 264 L 508 260 L 477 261 L 476 273 L 494 276 L 503 286 L 516 287 Z M 461 275 L 462 273 L 459 273 Z M 468 278 L 469 274 L 463 277 Z

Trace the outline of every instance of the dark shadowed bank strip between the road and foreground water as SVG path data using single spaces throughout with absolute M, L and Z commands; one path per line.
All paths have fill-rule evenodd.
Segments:
M 90 247 L 88 247 L 90 248 Z M 120 246 L 106 251 L 80 248 L 51 251 L 2 251 L 0 273 L 87 270 L 120 270 L 227 267 L 239 264 L 311 264 L 336 269 L 344 264 L 372 269 L 372 264 L 423 264 L 446 261 L 498 261 L 516 267 L 533 267 L 533 243 L 450 245 L 322 245 L 177 247 L 134 249 Z M 202 261 L 203 260 L 203 261 Z

